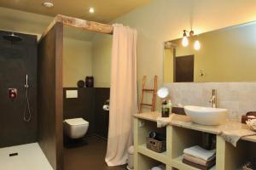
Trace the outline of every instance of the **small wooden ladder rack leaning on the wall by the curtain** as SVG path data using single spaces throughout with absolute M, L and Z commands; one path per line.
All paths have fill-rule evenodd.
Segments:
M 154 88 L 145 88 L 147 77 L 143 76 L 143 86 L 142 86 L 142 94 L 139 104 L 139 113 L 143 111 L 143 106 L 150 106 L 151 111 L 155 111 L 155 97 L 156 97 L 156 91 L 157 91 L 157 76 L 154 76 Z M 151 104 L 145 104 L 143 103 L 144 94 L 145 93 L 152 93 L 152 103 Z

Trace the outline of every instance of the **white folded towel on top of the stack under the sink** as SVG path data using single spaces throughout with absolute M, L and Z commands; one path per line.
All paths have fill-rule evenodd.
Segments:
M 186 148 L 183 150 L 184 154 L 201 158 L 202 160 L 209 161 L 212 156 L 215 156 L 216 150 L 205 150 L 198 145 Z

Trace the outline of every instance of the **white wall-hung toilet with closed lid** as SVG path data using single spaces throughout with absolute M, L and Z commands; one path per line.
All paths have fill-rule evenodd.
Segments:
M 66 119 L 64 121 L 64 132 L 71 139 L 80 139 L 87 133 L 89 122 L 83 118 Z

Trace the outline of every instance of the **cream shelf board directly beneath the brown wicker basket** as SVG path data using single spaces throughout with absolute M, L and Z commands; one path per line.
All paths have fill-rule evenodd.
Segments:
M 153 150 L 148 150 L 146 144 L 141 144 L 137 147 L 137 151 L 144 156 L 148 156 L 156 161 L 160 161 L 164 164 L 167 164 L 168 156 L 166 156 L 166 151 L 163 153 L 158 153 Z

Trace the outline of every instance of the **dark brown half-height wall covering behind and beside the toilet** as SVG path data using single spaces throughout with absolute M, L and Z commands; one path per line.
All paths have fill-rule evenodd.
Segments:
M 64 119 L 83 117 L 88 121 L 87 134 L 108 138 L 108 111 L 102 105 L 109 99 L 110 88 L 64 88 Z M 66 90 L 78 90 L 77 99 L 66 99 Z

